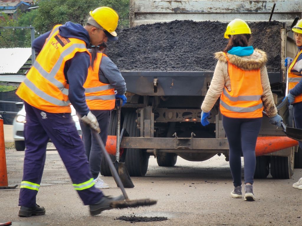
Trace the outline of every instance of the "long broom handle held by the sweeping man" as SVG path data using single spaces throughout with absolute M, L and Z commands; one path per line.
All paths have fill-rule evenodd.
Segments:
M 118 186 L 120 187 L 120 190 L 122 190 L 124 198 L 128 199 L 127 193 L 125 191 L 125 187 L 124 187 L 122 181 L 120 180 L 120 176 L 118 175 L 118 173 L 111 161 L 109 154 L 107 153 L 107 151 L 105 149 L 105 146 L 104 146 L 103 141 L 101 140 L 101 137 L 98 135 L 98 133 L 95 130 L 91 129 L 91 131 L 92 131 L 93 135 L 95 136 L 95 139 L 97 140 L 99 146 L 101 147 L 103 154 L 105 155 L 105 159 L 106 159 L 107 163 L 109 164 L 109 168 L 111 169 L 111 173 L 112 173 L 114 180 L 117 182 Z

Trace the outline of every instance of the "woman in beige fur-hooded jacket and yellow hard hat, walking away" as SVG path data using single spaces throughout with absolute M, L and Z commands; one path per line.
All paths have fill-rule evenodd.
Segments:
M 220 97 L 223 127 L 230 146 L 230 168 L 234 190 L 231 197 L 241 198 L 241 152 L 244 159 L 245 200 L 254 201 L 253 177 L 256 167 L 255 146 L 265 109 L 270 123 L 281 127 L 266 71 L 265 52 L 249 46 L 249 25 L 232 20 L 224 37 L 229 42 L 223 52 L 215 53 L 218 60 L 214 76 L 201 105 L 201 124 Z

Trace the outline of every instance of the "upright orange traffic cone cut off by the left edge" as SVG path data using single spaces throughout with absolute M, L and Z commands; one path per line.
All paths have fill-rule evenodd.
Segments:
M 0 118 L 0 186 L 8 186 L 3 119 Z

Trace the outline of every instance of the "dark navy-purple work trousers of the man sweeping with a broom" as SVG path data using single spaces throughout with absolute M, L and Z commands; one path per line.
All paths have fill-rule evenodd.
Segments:
M 83 142 L 70 113 L 49 113 L 24 103 L 25 157 L 22 181 L 40 185 L 44 169 L 46 146 L 49 139 L 55 145 L 73 184 L 82 184 L 92 178 Z M 19 206 L 36 206 L 37 190 L 20 189 Z M 104 195 L 94 186 L 77 190 L 84 205 L 98 202 Z M 53 191 L 55 193 L 55 191 Z

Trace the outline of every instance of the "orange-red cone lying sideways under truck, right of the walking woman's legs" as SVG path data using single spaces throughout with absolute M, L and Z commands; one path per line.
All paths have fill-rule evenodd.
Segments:
M 297 145 L 298 141 L 289 137 L 258 137 L 255 152 L 256 156 L 267 155 Z

